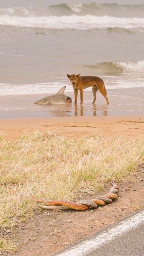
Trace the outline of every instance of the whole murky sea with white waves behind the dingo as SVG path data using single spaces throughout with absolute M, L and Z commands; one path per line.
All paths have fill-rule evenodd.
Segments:
M 144 88 L 143 0 L 1 0 L 0 34 L 0 96 L 72 92 L 66 74 Z

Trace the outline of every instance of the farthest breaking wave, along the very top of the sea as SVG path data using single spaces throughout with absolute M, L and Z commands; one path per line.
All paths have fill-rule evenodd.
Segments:
M 110 15 L 115 13 L 116 16 L 126 16 L 128 17 L 143 17 L 144 12 L 144 4 L 117 4 L 117 3 L 109 3 L 109 4 L 97 4 L 91 2 L 89 4 L 55 4 L 51 6 L 39 6 L 39 8 L 30 7 L 13 7 L 13 8 L 5 8 L 0 9 L 0 14 L 24 14 L 30 15 L 38 14 L 40 16 L 45 16 L 45 14 L 52 14 L 52 15 L 72 15 L 77 13 L 79 15 L 82 14 L 91 14 L 91 15 Z

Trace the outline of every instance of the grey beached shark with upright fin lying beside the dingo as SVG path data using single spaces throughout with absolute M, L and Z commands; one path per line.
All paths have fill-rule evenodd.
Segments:
M 64 94 L 64 90 L 66 86 L 62 87 L 57 94 L 47 96 L 46 98 L 42 98 L 34 102 L 34 104 L 42 104 L 42 105 L 61 105 L 61 104 L 72 104 L 72 99 L 69 96 Z

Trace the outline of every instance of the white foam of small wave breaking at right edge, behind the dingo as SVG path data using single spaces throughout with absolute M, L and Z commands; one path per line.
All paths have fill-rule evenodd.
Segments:
M 144 72 L 144 60 L 134 62 L 114 61 L 115 66 L 122 68 L 124 72 Z

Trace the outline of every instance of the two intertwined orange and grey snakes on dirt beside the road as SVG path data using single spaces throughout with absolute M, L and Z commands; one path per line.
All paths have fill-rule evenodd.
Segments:
M 85 211 L 89 208 L 97 208 L 97 206 L 102 206 L 105 203 L 111 203 L 112 199 L 118 198 L 118 186 L 112 180 L 111 182 L 112 188 L 110 192 L 105 194 L 104 196 L 99 196 L 92 200 L 81 200 L 79 202 L 71 202 L 66 200 L 54 200 L 54 201 L 45 201 L 44 199 L 36 199 L 35 202 L 44 203 L 45 205 L 37 205 L 41 209 L 46 210 L 77 210 L 77 211 Z

